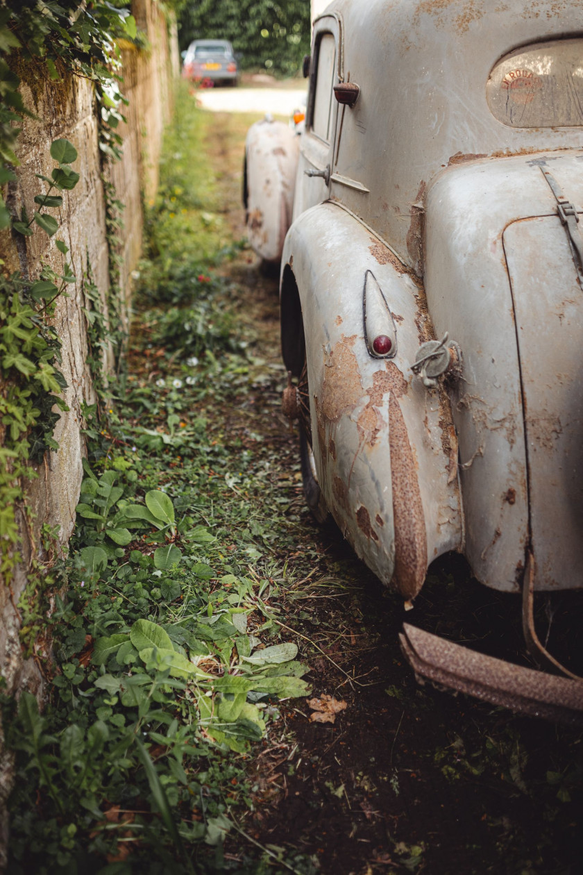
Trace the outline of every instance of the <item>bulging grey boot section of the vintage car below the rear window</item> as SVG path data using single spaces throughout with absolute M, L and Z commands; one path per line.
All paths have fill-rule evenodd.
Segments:
M 582 161 L 580 150 L 468 161 L 427 193 L 427 302 L 463 353 L 451 402 L 465 553 L 498 590 L 520 587 L 527 549 L 535 590 L 581 586 L 583 271 L 552 185 L 575 205 L 583 244 Z

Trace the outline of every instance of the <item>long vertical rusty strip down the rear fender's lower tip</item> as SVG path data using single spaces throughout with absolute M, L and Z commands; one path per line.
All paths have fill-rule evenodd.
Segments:
M 389 397 L 392 512 L 395 530 L 393 583 L 403 598 L 415 598 L 427 571 L 425 517 L 415 458 L 397 396 Z

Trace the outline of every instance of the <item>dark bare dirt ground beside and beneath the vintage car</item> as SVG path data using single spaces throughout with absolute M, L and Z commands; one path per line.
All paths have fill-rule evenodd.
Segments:
M 224 216 L 239 238 L 242 144 L 252 119 L 214 118 L 208 147 Z M 281 558 L 301 556 L 310 567 L 282 622 L 299 631 L 313 696 L 334 697 L 343 709 L 332 724 L 313 722 L 308 701 L 282 708 L 281 732 L 258 746 L 249 767 L 255 810 L 242 824 L 247 836 L 281 858 L 278 872 L 583 872 L 580 731 L 415 682 L 398 643 L 402 603 L 357 561 L 337 528 L 318 528 L 303 509 L 296 437 L 273 379 L 277 278 L 263 276 L 248 250 L 226 271 L 244 290 L 242 318 L 253 323 L 271 374 L 237 399 L 228 428 L 241 436 L 253 430 L 273 446 L 300 520 L 295 551 Z M 552 610 L 551 639 L 560 641 L 573 599 Z M 406 620 L 529 664 L 517 598 L 477 584 L 460 556 L 434 563 Z M 569 641 L 580 651 L 580 628 Z M 298 854 L 303 862 L 290 863 Z M 239 858 L 236 840 L 227 842 L 226 857 Z

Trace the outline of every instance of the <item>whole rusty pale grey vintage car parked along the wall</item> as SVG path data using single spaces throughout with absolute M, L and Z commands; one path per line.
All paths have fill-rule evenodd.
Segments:
M 580 722 L 533 603 L 583 584 L 583 4 L 335 0 L 305 131 L 253 126 L 246 197 L 253 248 L 281 258 L 314 515 L 407 603 L 451 550 L 522 593 L 537 669 L 408 623 L 406 658 Z

